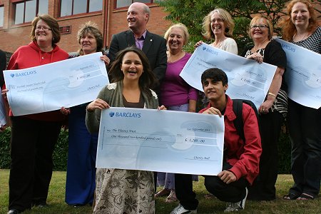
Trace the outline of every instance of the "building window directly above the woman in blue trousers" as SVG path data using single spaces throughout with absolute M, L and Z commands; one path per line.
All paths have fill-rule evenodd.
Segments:
M 103 0 L 61 0 L 60 17 L 86 14 L 103 9 Z

